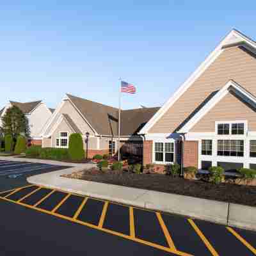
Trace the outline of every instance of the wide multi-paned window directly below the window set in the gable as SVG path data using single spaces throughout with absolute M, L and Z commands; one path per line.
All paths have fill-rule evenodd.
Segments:
M 244 156 L 243 140 L 218 140 L 218 156 Z

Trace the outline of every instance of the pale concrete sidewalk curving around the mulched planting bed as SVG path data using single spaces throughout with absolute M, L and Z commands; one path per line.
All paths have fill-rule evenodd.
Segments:
M 94 164 L 61 163 L 38 159 L 18 159 L 17 157 L 3 157 L 3 159 L 74 166 L 60 171 L 28 177 L 28 182 L 32 184 L 70 191 L 120 204 L 133 205 L 144 209 L 181 214 L 223 225 L 256 230 L 256 207 L 60 177 L 63 174 L 91 168 Z

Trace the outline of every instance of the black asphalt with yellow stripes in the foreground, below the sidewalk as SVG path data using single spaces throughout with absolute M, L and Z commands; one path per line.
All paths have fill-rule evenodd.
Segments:
M 0 211 L 2 255 L 256 255 L 255 232 L 35 185 Z

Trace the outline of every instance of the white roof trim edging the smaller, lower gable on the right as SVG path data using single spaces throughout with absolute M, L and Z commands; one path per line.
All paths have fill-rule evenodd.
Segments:
M 221 90 L 219 90 L 198 112 L 191 118 L 189 121 L 184 124 L 183 127 L 178 131 L 180 133 L 189 132 L 189 130 L 201 120 L 201 118 L 206 115 L 218 102 L 220 102 L 228 92 L 234 92 L 245 102 L 253 106 L 256 109 L 256 97 L 252 93 L 246 91 L 240 84 L 237 84 L 235 81 L 228 81 Z

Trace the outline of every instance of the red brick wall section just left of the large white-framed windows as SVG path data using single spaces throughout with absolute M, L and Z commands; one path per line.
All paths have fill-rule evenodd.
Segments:
M 184 141 L 184 167 L 198 168 L 198 141 Z

